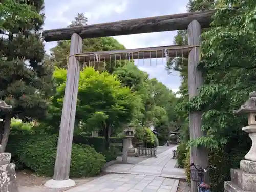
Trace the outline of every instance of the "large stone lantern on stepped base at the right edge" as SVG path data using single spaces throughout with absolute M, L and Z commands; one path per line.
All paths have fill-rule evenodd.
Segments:
M 249 133 L 252 146 L 240 161 L 240 169 L 231 169 L 231 181 L 225 181 L 225 192 L 256 191 L 256 91 L 249 94 L 249 99 L 240 109 L 235 110 L 236 114 L 248 115 L 248 126 L 242 130 Z

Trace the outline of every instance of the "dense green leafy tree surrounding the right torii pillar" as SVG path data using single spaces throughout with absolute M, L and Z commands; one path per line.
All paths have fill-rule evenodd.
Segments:
M 247 125 L 245 116 L 233 114 L 255 90 L 255 1 L 207 1 L 190 0 L 189 11 L 224 8 L 217 11 L 212 27 L 202 34 L 199 69 L 203 72 L 204 86 L 199 95 L 188 101 L 187 59 L 176 58 L 168 63 L 170 69 L 181 72 L 181 99 L 176 108 L 184 120 L 182 145 L 209 148 L 209 164 L 217 167 L 210 173 L 212 191 L 223 191 L 223 182 L 230 180 L 230 168 L 239 166 L 239 161 L 248 151 L 248 136 L 240 131 Z M 179 31 L 175 44 L 186 44 L 186 31 Z M 203 111 L 201 129 L 206 136 L 189 141 L 188 113 Z M 179 121 L 180 124 L 181 121 Z M 182 125 L 182 124 L 181 124 Z M 183 146 L 179 146 L 182 150 Z M 239 147 L 238 147 L 239 146 Z M 184 147 L 185 149 L 185 147 Z M 185 152 L 185 150 L 183 151 Z M 189 153 L 189 152 L 188 152 Z M 189 154 L 178 153 L 179 163 L 186 168 L 190 180 Z

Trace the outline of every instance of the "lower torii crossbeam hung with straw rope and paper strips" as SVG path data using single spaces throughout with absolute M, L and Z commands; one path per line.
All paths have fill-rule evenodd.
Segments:
M 184 46 L 160 46 L 138 49 L 124 49 L 113 51 L 96 51 L 75 54 L 80 62 L 96 62 L 110 60 L 128 60 L 128 59 L 154 59 L 165 58 L 166 53 L 169 57 L 188 57 L 189 51 L 193 47 Z

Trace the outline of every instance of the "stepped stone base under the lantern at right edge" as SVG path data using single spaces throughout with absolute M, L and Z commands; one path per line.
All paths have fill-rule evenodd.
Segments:
M 240 161 L 240 169 L 230 169 L 231 181 L 225 181 L 225 192 L 256 192 L 256 162 Z

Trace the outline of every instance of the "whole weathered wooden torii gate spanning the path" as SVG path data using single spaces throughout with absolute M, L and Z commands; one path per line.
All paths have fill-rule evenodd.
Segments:
M 68 74 L 62 108 L 54 176 L 52 180 L 46 183 L 46 186 L 52 188 L 62 188 L 75 185 L 75 182 L 69 179 L 69 172 L 80 71 L 80 64 L 77 58 L 79 57 L 78 55 L 82 52 L 82 39 L 187 29 L 189 45 L 135 49 L 138 54 L 134 57 L 134 59 L 142 58 L 140 51 L 143 49 L 158 50 L 150 53 L 150 55 L 154 58 L 161 58 L 163 50 L 166 49 L 169 49 L 170 57 L 188 56 L 188 90 L 189 98 L 191 98 L 198 95 L 199 88 L 203 84 L 202 74 L 197 69 L 197 64 L 200 59 L 199 45 L 201 29 L 210 26 L 211 17 L 216 13 L 216 11 L 217 10 L 207 10 L 200 12 L 124 20 L 112 23 L 46 30 L 42 33 L 42 36 L 46 42 L 71 39 Z M 159 52 L 159 50 L 161 51 Z M 119 50 L 116 52 L 125 52 L 127 54 L 134 52 L 134 50 Z M 98 53 L 100 54 L 100 52 Z M 119 58 L 121 56 L 122 54 L 119 54 Z M 149 55 L 143 55 L 143 58 L 151 57 Z M 202 113 L 199 111 L 190 112 L 189 114 L 189 130 L 191 140 L 204 135 L 204 133 L 201 131 L 201 116 Z M 190 156 L 191 162 L 194 162 L 195 164 L 202 166 L 208 164 L 208 154 L 205 153 L 204 148 L 192 147 Z M 191 188 L 193 189 L 191 192 L 196 192 L 196 183 L 192 182 L 191 185 Z

